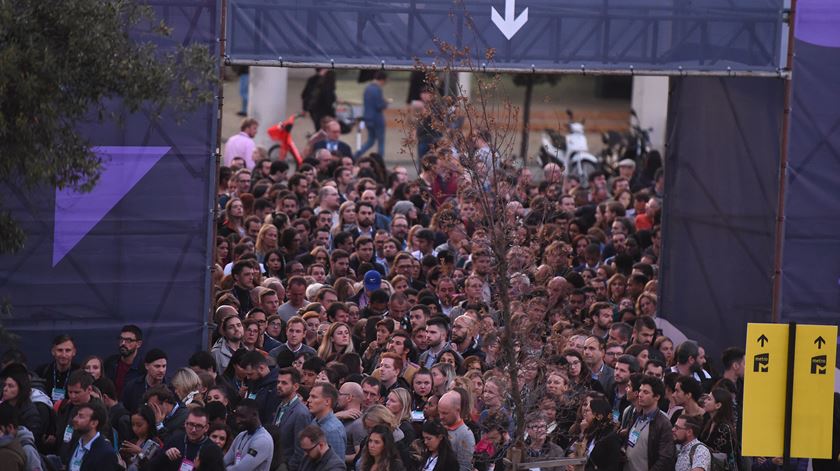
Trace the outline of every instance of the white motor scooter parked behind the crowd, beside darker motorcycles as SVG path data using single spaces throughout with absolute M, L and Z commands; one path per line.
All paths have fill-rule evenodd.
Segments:
M 540 164 L 543 167 L 551 162 L 560 164 L 566 169 L 566 175 L 577 177 L 581 186 L 588 188 L 589 175 L 601 168 L 601 162 L 589 152 L 584 121 L 575 121 L 572 110 L 566 110 L 566 116 L 569 119 L 567 134 L 553 129 L 543 131 Z

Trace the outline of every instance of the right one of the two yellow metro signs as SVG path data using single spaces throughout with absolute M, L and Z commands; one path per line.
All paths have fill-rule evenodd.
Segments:
M 795 348 L 790 456 L 831 458 L 837 326 L 797 325 Z

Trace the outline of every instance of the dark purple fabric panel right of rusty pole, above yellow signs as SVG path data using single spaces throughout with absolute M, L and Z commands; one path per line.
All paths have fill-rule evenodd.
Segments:
M 783 321 L 837 324 L 840 49 L 797 41 L 795 51 L 781 314 Z

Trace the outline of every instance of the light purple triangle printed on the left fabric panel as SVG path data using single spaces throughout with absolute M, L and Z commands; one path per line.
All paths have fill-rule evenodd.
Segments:
M 89 193 L 55 192 L 53 267 L 134 188 L 170 147 L 94 147 L 102 159 L 99 182 Z

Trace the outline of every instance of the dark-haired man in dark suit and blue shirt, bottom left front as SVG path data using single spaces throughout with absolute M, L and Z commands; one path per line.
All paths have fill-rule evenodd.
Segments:
M 73 430 L 76 432 L 69 452 L 62 458 L 68 471 L 116 471 L 117 453 L 107 438 L 100 435 L 99 429 L 108 422 L 105 408 L 99 404 L 79 406 L 73 417 Z

